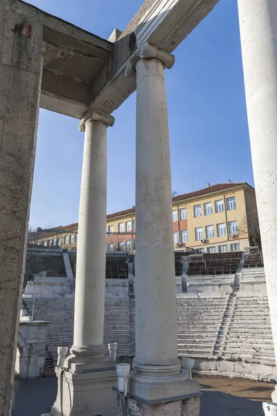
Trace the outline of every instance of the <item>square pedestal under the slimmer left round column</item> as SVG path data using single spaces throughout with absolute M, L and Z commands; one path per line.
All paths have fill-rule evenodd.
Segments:
M 111 362 L 113 363 L 113 362 Z M 42 416 L 116 416 L 116 366 L 112 369 L 90 369 L 84 372 L 56 367 L 57 399 L 51 413 Z

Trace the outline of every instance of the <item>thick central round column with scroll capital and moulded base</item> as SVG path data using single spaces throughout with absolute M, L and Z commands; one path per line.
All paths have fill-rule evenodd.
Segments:
M 143 403 L 199 395 L 177 358 L 177 306 L 164 67 L 174 57 L 136 53 L 136 356 L 130 392 Z M 133 60 L 134 62 L 134 60 Z M 131 66 L 126 72 L 132 73 Z M 186 382 L 185 382 L 186 381 Z M 152 414 L 152 413 L 151 413 Z

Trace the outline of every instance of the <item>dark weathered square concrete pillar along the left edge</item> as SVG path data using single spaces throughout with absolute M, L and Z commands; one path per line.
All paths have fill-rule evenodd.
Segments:
M 10 415 L 42 80 L 42 24 L 25 3 L 0 1 L 0 415 Z M 12 31 L 20 22 L 30 37 Z

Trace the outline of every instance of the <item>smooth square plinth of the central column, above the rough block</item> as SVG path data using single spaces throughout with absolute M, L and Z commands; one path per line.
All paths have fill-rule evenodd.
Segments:
M 189 379 L 188 370 L 181 368 L 178 376 L 141 376 L 131 372 L 128 392 L 143 404 L 161 404 L 201 396 L 198 381 Z

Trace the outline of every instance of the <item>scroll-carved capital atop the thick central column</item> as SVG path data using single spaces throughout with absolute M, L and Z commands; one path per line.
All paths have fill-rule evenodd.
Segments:
M 129 58 L 124 71 L 125 76 L 129 76 L 135 72 L 136 63 L 139 62 L 139 60 L 148 58 L 157 58 L 161 60 L 164 67 L 168 69 L 172 68 L 175 63 L 174 55 L 166 51 L 161 51 L 161 49 L 157 49 L 155 46 L 145 42 L 139 49 L 136 49 L 131 58 Z

